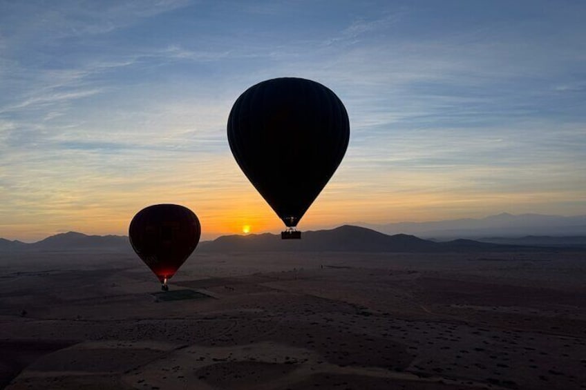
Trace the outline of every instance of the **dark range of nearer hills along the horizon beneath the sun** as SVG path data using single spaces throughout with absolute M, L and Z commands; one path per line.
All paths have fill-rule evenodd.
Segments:
M 339 226 L 330 230 L 305 231 L 301 240 L 281 240 L 271 233 L 250 235 L 225 235 L 216 240 L 200 242 L 197 251 L 207 253 L 223 252 L 267 252 L 267 251 L 339 251 L 339 252 L 469 252 L 469 251 L 511 251 L 529 246 L 586 248 L 585 237 L 569 237 L 569 241 L 556 237 L 540 240 L 533 237 L 525 240 L 509 240 L 502 237 L 474 240 L 451 240 L 435 242 L 423 240 L 414 235 L 386 235 L 360 226 Z M 541 245 L 539 243 L 541 242 Z M 524 246 L 523 246 L 524 245 Z M 39 242 L 27 244 L 19 241 L 0 239 L 0 252 L 21 251 L 131 251 L 129 238 L 120 235 L 85 235 L 83 233 L 61 233 Z

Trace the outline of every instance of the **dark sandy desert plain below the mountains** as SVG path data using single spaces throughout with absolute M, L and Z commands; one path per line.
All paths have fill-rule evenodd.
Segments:
M 586 389 L 586 253 L 2 254 L 7 389 Z

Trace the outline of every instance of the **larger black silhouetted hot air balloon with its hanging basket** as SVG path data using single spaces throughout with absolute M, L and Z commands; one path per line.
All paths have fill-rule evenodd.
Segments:
M 227 130 L 236 162 L 287 226 L 281 237 L 301 238 L 299 220 L 348 148 L 341 100 L 308 79 L 262 81 L 236 99 Z

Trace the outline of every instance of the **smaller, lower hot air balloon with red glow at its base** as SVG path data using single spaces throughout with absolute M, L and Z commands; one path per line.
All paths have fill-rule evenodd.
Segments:
M 143 208 L 132 219 L 129 238 L 132 248 L 157 275 L 164 291 L 167 280 L 187 260 L 200 241 L 197 215 L 177 204 L 155 204 Z

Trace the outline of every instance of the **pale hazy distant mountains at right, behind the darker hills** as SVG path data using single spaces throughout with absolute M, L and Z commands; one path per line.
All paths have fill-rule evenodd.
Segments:
M 366 224 L 386 234 L 407 233 L 419 237 L 449 239 L 480 237 L 523 237 L 527 235 L 571 236 L 586 235 L 586 215 L 563 217 L 560 215 L 501 213 L 478 220 L 464 218 L 435 222 L 398 222 L 395 224 Z

